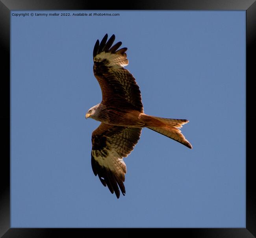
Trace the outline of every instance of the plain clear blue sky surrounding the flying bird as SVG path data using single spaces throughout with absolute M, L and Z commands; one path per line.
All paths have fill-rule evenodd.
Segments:
M 245 227 L 245 11 L 12 11 L 11 227 Z M 72 13 L 119 16 L 72 16 Z M 91 168 L 93 46 L 115 34 L 145 113 L 187 119 L 189 149 L 147 128 L 117 199 Z

